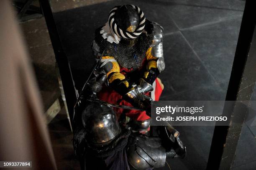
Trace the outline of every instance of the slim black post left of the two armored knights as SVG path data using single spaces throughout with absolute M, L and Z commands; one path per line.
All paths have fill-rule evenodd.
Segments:
M 69 66 L 69 61 L 61 45 L 61 40 L 59 38 L 58 30 L 54 22 L 54 17 L 51 12 L 51 6 L 48 0 L 39 0 L 46 21 L 47 28 L 49 30 L 49 35 L 51 38 L 51 44 L 54 49 L 54 54 L 56 62 L 59 66 L 59 73 L 61 76 L 61 81 L 63 84 L 63 89 L 65 93 L 65 98 L 67 101 L 67 108 L 69 116 L 73 119 L 74 116 L 74 103 L 77 100 L 75 87 L 72 79 L 72 73 Z M 71 122 L 72 123 L 72 122 Z M 72 124 L 73 126 L 73 124 Z

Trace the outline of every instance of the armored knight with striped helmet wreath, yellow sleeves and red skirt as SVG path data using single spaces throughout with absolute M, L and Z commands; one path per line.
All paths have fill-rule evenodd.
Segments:
M 92 42 L 96 58 L 102 55 L 100 67 L 109 84 L 100 91 L 99 99 L 146 110 L 151 100 L 159 100 L 164 88 L 157 78 L 165 67 L 162 41 L 163 28 L 146 20 L 137 6 L 122 5 L 110 10 L 108 22 L 95 31 Z M 130 117 L 127 125 L 135 131 L 146 132 L 150 127 L 146 112 L 123 109 L 115 112 L 119 120 L 122 115 Z

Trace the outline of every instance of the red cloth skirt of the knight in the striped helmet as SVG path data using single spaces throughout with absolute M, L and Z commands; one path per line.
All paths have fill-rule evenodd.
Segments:
M 156 79 L 155 101 L 159 100 L 162 91 L 163 90 L 161 89 L 161 86 L 160 86 L 158 80 Z M 148 92 L 146 95 L 150 96 L 150 93 Z M 113 90 L 107 86 L 104 86 L 102 88 L 102 90 L 98 94 L 98 98 L 100 100 L 106 101 L 110 104 L 120 104 L 120 105 L 133 107 L 132 104 L 123 100 L 122 99 L 123 97 L 120 94 L 118 94 L 115 90 Z M 148 115 L 146 115 L 145 111 L 132 110 L 132 109 L 120 109 L 120 108 L 116 108 L 116 107 L 114 107 L 114 110 L 117 114 L 118 119 L 122 113 L 125 113 L 125 115 L 127 117 L 130 117 L 131 119 L 137 120 L 137 121 L 143 121 L 143 120 L 147 120 L 150 118 Z

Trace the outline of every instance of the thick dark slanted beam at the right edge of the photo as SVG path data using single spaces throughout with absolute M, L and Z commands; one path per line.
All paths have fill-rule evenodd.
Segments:
M 256 10 L 255 2 L 247 0 L 228 84 L 226 101 L 234 102 L 229 111 L 229 126 L 215 126 L 207 170 L 228 170 L 232 167 L 242 125 L 247 116 L 249 101 L 256 81 Z M 223 114 L 224 114 L 223 112 Z M 218 125 L 218 124 L 217 124 Z

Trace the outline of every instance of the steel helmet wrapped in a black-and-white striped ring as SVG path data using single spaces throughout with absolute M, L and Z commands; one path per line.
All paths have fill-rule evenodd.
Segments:
M 108 15 L 111 32 L 126 39 L 134 39 L 141 35 L 145 21 L 144 13 L 135 5 L 116 6 Z

